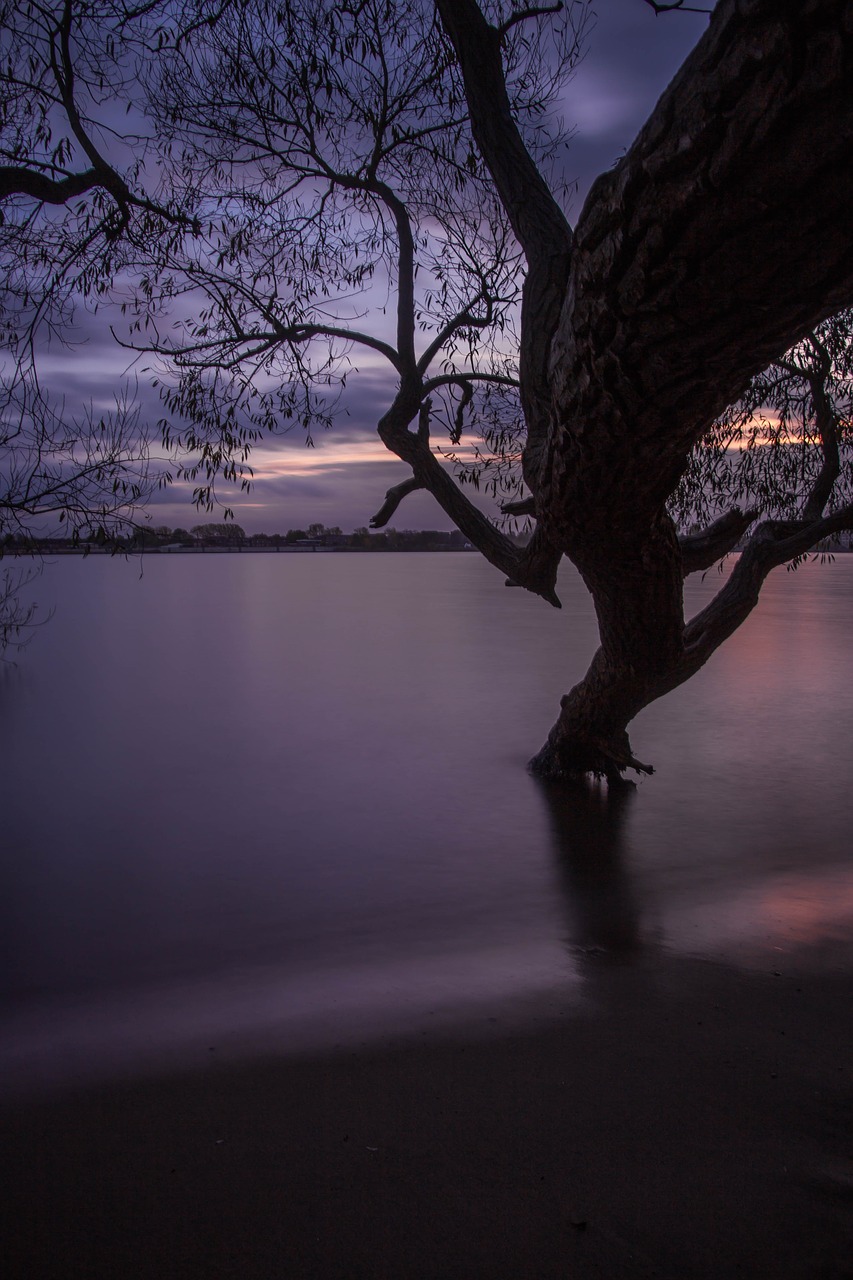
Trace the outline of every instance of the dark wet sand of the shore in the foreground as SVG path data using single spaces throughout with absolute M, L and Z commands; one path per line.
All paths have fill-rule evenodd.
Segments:
M 526 1030 L 19 1101 L 4 1275 L 850 1277 L 853 987 L 816 960 L 603 965 Z

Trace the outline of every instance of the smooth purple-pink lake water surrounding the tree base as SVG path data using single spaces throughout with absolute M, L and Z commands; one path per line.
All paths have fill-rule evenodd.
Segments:
M 596 646 L 560 590 L 465 554 L 49 566 L 0 684 L 8 1082 L 573 1007 L 596 961 L 831 963 L 853 557 L 771 576 L 610 806 L 524 768 Z

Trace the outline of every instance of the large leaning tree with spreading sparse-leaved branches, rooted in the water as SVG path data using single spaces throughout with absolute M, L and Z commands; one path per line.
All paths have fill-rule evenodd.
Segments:
M 575 228 L 549 168 L 562 140 L 549 113 L 580 49 L 580 0 L 170 12 L 181 36 L 140 76 L 158 200 L 195 230 L 164 246 L 124 237 L 122 266 L 140 282 L 129 342 L 161 362 L 167 439 L 197 457 L 197 500 L 219 476 L 248 481 L 263 433 L 330 421 L 356 352 L 383 358 L 397 389 L 378 430 L 411 477 L 374 527 L 426 489 L 467 541 L 552 604 L 569 557 L 601 648 L 534 767 L 648 771 L 628 737 L 637 713 L 707 662 L 775 566 L 853 526 L 840 420 L 834 443 L 822 357 L 808 347 L 853 303 L 849 5 L 721 0 Z M 380 278 L 391 326 L 377 319 Z M 178 326 L 146 337 L 169 307 Z M 780 435 L 766 457 L 774 493 L 792 444 L 820 457 L 802 468 L 813 483 L 799 508 L 783 515 L 758 494 L 760 512 L 730 506 L 679 536 L 692 475 L 713 477 L 726 421 L 749 430 L 751 397 L 763 394 L 753 380 L 785 360 L 817 426 Z M 473 416 L 498 486 L 519 454 L 526 495 L 508 511 L 534 520 L 524 548 L 437 456 L 437 428 L 453 453 Z M 685 623 L 685 575 L 751 526 L 727 581 Z

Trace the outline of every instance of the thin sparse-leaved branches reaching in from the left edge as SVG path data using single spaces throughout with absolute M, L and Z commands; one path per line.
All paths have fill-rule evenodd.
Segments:
M 115 541 L 169 479 L 150 468 L 149 430 L 127 389 L 106 412 L 69 408 L 42 387 L 37 362 L 63 340 L 76 298 L 97 305 L 124 234 L 142 243 L 186 229 L 179 212 L 138 193 L 141 140 L 113 128 L 140 23 L 156 8 L 0 3 L 0 536 L 26 541 L 58 526 Z M 32 577 L 3 576 L 0 652 L 32 620 L 19 598 Z

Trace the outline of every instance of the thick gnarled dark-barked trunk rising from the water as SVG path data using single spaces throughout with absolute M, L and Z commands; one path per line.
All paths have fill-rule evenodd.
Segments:
M 803 521 L 760 526 L 685 627 L 684 575 L 708 549 L 731 549 L 753 517 L 729 512 L 704 544 L 678 539 L 666 500 L 692 448 L 749 378 L 853 302 L 853 9 L 721 0 L 573 234 L 540 179 L 520 180 L 533 164 L 505 106 L 501 33 L 474 0 L 437 8 L 529 265 L 521 346 L 537 534 L 579 568 L 601 631 L 533 765 L 647 771 L 628 740 L 634 716 L 707 660 L 775 564 L 853 527 L 853 508 L 824 517 L 827 494 L 812 494 Z

